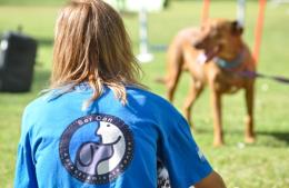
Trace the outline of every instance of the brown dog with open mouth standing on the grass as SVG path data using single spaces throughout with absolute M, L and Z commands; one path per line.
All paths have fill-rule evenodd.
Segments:
M 245 89 L 247 105 L 246 142 L 255 141 L 253 133 L 253 83 L 246 77 L 255 71 L 256 63 L 249 48 L 241 39 L 242 27 L 237 21 L 212 19 L 201 28 L 181 30 L 168 50 L 168 73 L 165 79 L 170 101 L 182 70 L 189 71 L 193 83 L 183 106 L 183 113 L 190 119 L 191 107 L 207 83 L 213 116 L 213 145 L 223 145 L 221 123 L 221 95 Z

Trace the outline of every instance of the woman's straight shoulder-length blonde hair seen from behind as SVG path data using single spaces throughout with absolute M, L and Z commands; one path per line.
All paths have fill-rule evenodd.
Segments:
M 50 88 L 87 81 L 93 89 L 89 102 L 108 86 L 122 103 L 126 86 L 138 82 L 140 67 L 119 13 L 102 0 L 71 0 L 56 24 Z

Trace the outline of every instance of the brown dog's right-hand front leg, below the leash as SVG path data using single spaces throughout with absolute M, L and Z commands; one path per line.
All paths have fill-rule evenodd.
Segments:
M 246 116 L 246 135 L 245 141 L 248 144 L 255 142 L 253 133 L 253 82 L 250 82 L 245 91 L 247 116 Z

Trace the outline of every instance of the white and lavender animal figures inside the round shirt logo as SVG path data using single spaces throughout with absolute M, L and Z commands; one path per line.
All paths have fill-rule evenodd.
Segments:
M 106 121 L 100 121 L 96 130 L 99 142 L 82 144 L 76 157 L 77 168 L 89 175 L 104 175 L 120 164 L 126 152 L 126 142 L 122 131 Z

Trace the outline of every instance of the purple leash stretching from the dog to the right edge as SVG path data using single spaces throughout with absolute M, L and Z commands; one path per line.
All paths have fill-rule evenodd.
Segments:
M 285 85 L 289 85 L 289 78 L 286 77 L 278 77 L 278 76 L 268 76 L 265 73 L 260 73 L 260 72 L 256 72 L 256 71 L 242 71 L 238 73 L 241 77 L 246 77 L 246 78 L 266 78 L 269 80 L 273 80 L 280 83 L 285 83 Z

